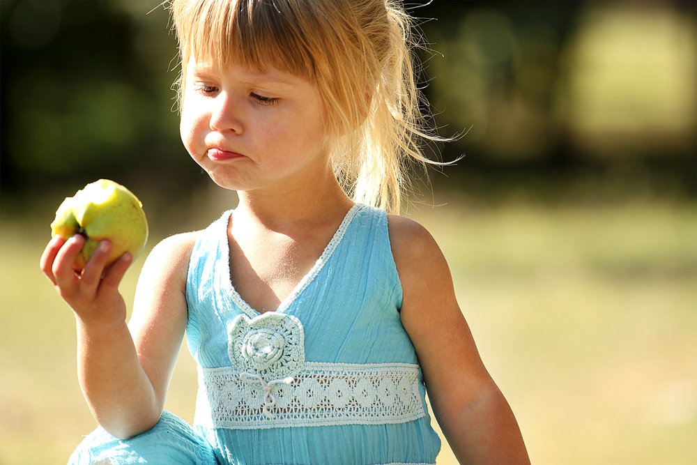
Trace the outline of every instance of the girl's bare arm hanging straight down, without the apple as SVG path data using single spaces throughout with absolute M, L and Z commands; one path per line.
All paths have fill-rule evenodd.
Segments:
M 516 419 L 477 352 L 436 241 L 398 216 L 390 216 L 390 241 L 404 291 L 401 321 L 455 456 L 463 464 L 529 464 Z

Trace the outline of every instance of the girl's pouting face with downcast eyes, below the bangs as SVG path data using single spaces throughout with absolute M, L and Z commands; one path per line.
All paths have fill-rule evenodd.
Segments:
M 192 59 L 184 85 L 182 141 L 218 185 L 288 192 L 331 172 L 323 102 L 305 79 Z

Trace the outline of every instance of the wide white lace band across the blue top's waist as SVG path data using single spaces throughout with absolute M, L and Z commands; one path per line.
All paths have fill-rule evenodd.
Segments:
M 212 428 L 377 425 L 425 415 L 418 365 L 306 363 L 264 380 L 232 367 L 199 367 L 194 424 Z

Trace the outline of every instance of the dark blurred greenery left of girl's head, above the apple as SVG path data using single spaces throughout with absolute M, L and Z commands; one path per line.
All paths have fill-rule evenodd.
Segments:
M 0 2 L 3 188 L 188 165 L 158 3 Z

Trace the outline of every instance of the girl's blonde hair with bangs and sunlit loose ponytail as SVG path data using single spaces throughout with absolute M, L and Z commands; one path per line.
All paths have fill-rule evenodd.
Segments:
M 408 169 L 429 160 L 412 18 L 395 0 L 172 0 L 182 77 L 191 56 L 316 84 L 330 159 L 354 201 L 398 212 Z M 181 87 L 180 87 L 181 93 Z

